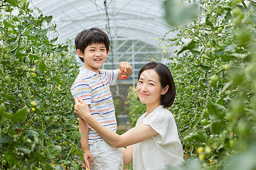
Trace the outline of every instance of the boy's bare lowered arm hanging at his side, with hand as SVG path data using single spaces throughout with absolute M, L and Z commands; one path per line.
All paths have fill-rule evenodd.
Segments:
M 90 164 L 93 164 L 93 156 L 89 151 L 89 146 L 88 146 L 88 133 L 89 133 L 89 125 L 82 119 L 79 118 L 79 131 L 84 134 L 81 135 L 81 148 L 82 151 L 84 151 L 84 162 L 82 163 L 82 167 L 88 167 L 90 168 Z M 90 160 L 90 164 L 88 162 L 88 159 Z

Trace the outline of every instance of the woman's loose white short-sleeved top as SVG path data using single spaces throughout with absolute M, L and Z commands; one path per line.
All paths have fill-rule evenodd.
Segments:
M 162 170 L 170 164 L 183 164 L 183 148 L 172 113 L 160 105 L 148 116 L 145 116 L 146 113 L 138 118 L 136 126 L 149 125 L 158 134 L 133 145 L 133 169 Z

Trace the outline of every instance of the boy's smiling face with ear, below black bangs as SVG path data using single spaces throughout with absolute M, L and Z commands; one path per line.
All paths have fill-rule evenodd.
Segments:
M 85 68 L 95 72 L 100 71 L 100 67 L 106 61 L 106 57 L 108 56 L 108 52 L 103 43 L 86 46 L 84 53 L 81 53 L 81 50 L 78 49 L 77 54 L 79 57 L 84 58 Z

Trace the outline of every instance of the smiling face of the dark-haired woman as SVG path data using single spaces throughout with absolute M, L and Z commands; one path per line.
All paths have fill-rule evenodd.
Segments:
M 166 88 L 162 88 L 159 75 L 154 69 L 142 72 L 136 89 L 139 100 L 146 105 L 160 105 L 161 95 L 166 93 Z

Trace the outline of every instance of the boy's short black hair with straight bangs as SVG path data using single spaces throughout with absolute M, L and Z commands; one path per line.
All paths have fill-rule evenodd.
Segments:
M 80 49 L 82 53 L 84 53 L 86 46 L 101 43 L 105 44 L 106 51 L 108 52 L 110 46 L 109 37 L 100 28 L 84 29 L 76 36 L 75 39 L 76 50 Z M 84 62 L 84 58 L 79 58 Z

